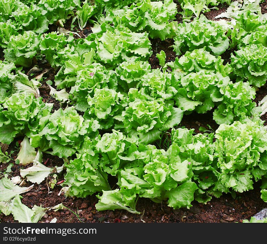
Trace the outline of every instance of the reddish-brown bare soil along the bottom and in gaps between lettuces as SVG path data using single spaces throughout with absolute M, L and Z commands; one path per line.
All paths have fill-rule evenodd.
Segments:
M 262 3 L 262 13 L 267 12 L 267 3 L 264 1 Z M 179 10 L 178 5 L 178 11 Z M 225 11 L 226 7 L 219 5 L 218 10 L 212 9 L 210 12 L 205 13 L 206 17 L 213 19 L 216 15 Z M 181 21 L 181 15 L 177 14 L 177 20 Z M 69 22 L 66 23 L 65 28 L 69 28 Z M 52 30 L 51 26 L 51 30 Z M 80 36 L 85 37 L 91 30 L 90 26 L 86 26 L 83 31 L 79 31 L 77 28 L 74 29 Z M 160 41 L 158 39 L 151 40 L 153 55 L 150 57 L 150 64 L 152 68 L 159 68 L 159 63 L 156 58 L 156 53 L 164 50 L 166 53 L 167 62 L 174 61 L 176 55 L 170 48 L 173 44 L 173 40 L 168 39 L 166 41 Z M 0 50 L 1 51 L 1 50 Z M 232 51 L 226 52 L 222 58 L 225 61 L 229 60 Z M 3 59 L 3 54 L 0 52 L 0 59 Z M 48 64 L 40 64 L 39 67 L 49 68 L 49 72 L 44 75 L 45 80 L 52 80 L 55 75 L 55 71 L 49 67 Z M 26 71 L 27 72 L 27 71 Z M 38 75 L 38 74 L 36 74 Z M 30 77 L 32 78 L 32 77 Z M 60 107 L 59 103 L 49 95 L 49 88 L 43 83 L 40 87 L 40 93 L 44 102 L 54 103 L 54 110 Z M 255 102 L 258 102 L 267 95 L 267 85 L 261 87 L 257 93 Z M 199 131 L 199 127 L 205 127 L 209 129 L 208 125 L 216 130 L 218 125 L 212 119 L 212 112 L 210 111 L 206 114 L 196 114 L 192 113 L 190 115 L 185 115 L 179 126 L 185 126 L 188 129 L 194 128 L 196 133 L 202 133 Z M 262 120 L 267 123 L 267 115 L 262 116 Z M 14 142 L 9 145 L 8 153 L 15 148 L 15 142 L 22 138 L 16 138 Z M 17 151 L 12 154 L 11 163 L 14 164 L 12 167 L 12 172 L 10 175 L 16 176 L 20 175 L 20 169 L 27 168 L 32 165 L 22 166 L 15 164 Z M 56 165 L 63 165 L 63 160 L 51 156 L 49 154 L 43 155 L 43 162 L 46 163 L 47 167 L 54 167 Z M 5 171 L 8 164 L 1 164 L 1 171 Z M 64 171 L 58 174 L 57 181 L 64 179 Z M 25 186 L 30 186 L 31 182 L 25 182 Z M 115 183 L 114 183 L 115 184 Z M 191 222 L 191 223 L 219 223 L 219 222 L 242 222 L 243 219 L 250 219 L 251 216 L 255 215 L 263 208 L 267 207 L 267 203 L 263 202 L 260 198 L 260 188 L 261 182 L 255 182 L 254 189 L 237 193 L 236 196 L 231 194 L 223 194 L 220 198 L 213 198 L 207 204 L 200 204 L 196 201 L 191 202 L 193 205 L 190 209 L 172 209 L 167 206 L 166 202 L 161 202 L 160 204 L 152 202 L 150 199 L 140 198 L 137 201 L 136 209 L 140 211 L 141 214 L 132 214 L 126 210 L 107 210 L 98 212 L 95 208 L 95 204 L 98 199 L 95 195 L 88 196 L 86 198 L 76 198 L 64 196 L 64 193 L 59 194 L 61 186 L 55 186 L 53 189 L 48 189 L 46 181 L 41 182 L 41 184 L 35 184 L 33 189 L 27 193 L 22 194 L 22 203 L 32 208 L 34 205 L 42 207 L 51 207 L 59 203 L 63 203 L 67 209 L 62 209 L 57 212 L 47 211 L 46 215 L 42 217 L 39 222 L 49 222 L 53 218 L 57 219 L 58 223 L 78 223 L 78 222 Z M 13 216 L 5 216 L 0 214 L 1 222 L 17 222 L 13 220 Z

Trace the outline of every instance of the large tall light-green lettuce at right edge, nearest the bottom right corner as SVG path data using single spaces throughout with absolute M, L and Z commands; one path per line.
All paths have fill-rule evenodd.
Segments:
M 263 122 L 235 121 L 215 131 L 215 159 L 221 192 L 253 189 L 253 181 L 266 175 L 267 132 Z

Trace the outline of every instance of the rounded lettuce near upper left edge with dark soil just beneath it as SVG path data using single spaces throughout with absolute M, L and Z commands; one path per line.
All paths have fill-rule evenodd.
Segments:
M 23 35 L 12 35 L 3 52 L 6 61 L 30 67 L 33 58 L 39 53 L 39 37 L 33 31 L 25 31 Z

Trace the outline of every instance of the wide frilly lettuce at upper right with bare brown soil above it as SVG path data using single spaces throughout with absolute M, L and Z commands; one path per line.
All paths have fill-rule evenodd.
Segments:
M 201 15 L 192 22 L 183 21 L 178 25 L 173 50 L 176 55 L 181 55 L 186 51 L 206 47 L 205 50 L 211 54 L 221 55 L 228 46 L 229 39 L 221 25 Z

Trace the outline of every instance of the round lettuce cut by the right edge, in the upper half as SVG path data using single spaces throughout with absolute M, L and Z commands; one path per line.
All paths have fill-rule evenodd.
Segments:
M 267 47 L 262 43 L 246 45 L 235 55 L 231 53 L 231 66 L 237 81 L 263 86 L 267 79 Z

